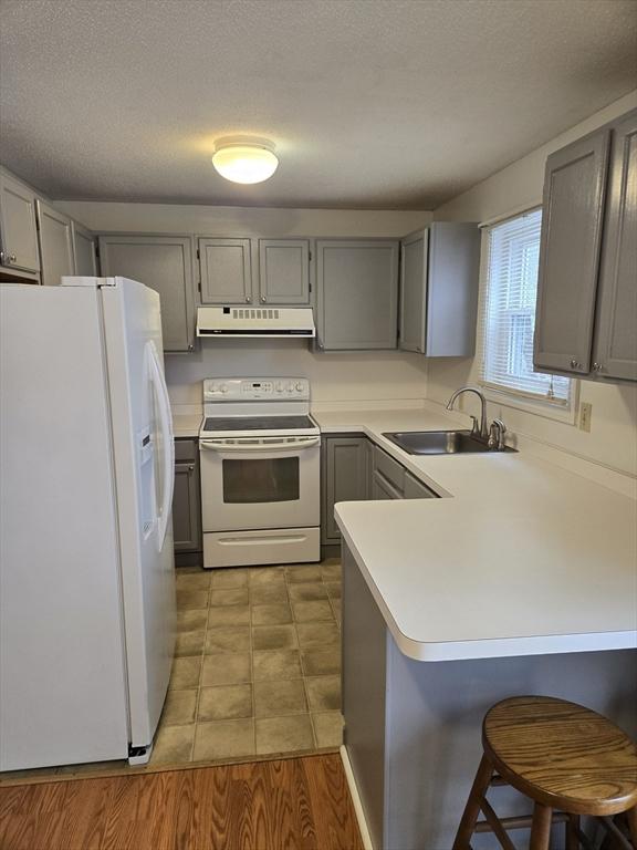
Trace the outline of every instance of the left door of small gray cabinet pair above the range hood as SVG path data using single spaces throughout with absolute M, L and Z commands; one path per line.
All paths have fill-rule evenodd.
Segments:
M 199 239 L 201 303 L 252 303 L 250 239 Z

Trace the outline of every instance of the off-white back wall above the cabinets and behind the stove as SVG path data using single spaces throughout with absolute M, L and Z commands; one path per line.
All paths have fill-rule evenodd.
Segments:
M 405 236 L 431 220 L 427 211 L 270 209 L 170 204 L 58 201 L 95 231 L 238 236 Z M 427 363 L 399 352 L 314 353 L 303 341 L 205 340 L 199 352 L 166 356 L 174 405 L 201 404 L 205 377 L 304 375 L 314 401 L 422 400 Z

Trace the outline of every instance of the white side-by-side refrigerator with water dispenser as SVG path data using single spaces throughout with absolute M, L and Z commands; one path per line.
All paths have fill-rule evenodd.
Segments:
M 170 675 L 159 297 L 0 284 L 0 769 L 147 759 Z

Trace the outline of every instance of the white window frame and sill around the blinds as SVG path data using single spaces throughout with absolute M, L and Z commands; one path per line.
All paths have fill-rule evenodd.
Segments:
M 534 204 L 530 207 L 516 209 L 504 216 L 489 219 L 480 225 L 481 246 L 480 246 L 480 281 L 479 281 L 479 301 L 478 301 L 478 332 L 476 353 L 478 355 L 478 384 L 484 393 L 487 401 L 512 407 L 514 410 L 531 413 L 536 416 L 543 416 L 549 419 L 556 419 L 566 424 L 574 425 L 579 404 L 579 381 L 567 379 L 570 381 L 570 393 L 567 400 L 555 400 L 534 395 L 524 390 L 515 390 L 495 382 L 487 380 L 484 376 L 485 355 L 487 355 L 487 328 L 488 328 L 488 298 L 490 286 L 490 265 L 491 265 L 491 231 L 493 228 L 511 221 L 530 212 L 536 212 L 542 209 L 541 204 Z

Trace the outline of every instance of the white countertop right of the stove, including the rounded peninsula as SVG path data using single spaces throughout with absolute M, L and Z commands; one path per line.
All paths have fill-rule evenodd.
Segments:
M 394 640 L 420 661 L 637 646 L 637 502 L 528 453 L 414 456 L 389 431 L 445 412 L 314 412 L 448 497 L 342 502 L 336 519 Z

